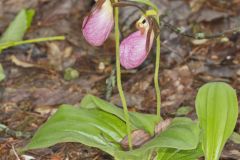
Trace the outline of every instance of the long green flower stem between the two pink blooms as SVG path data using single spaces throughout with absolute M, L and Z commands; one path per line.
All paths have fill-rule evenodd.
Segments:
M 117 3 L 118 0 L 115 0 Z M 131 137 L 131 128 L 130 128 L 130 121 L 129 121 L 129 114 L 128 114 L 128 108 L 127 108 L 127 102 L 124 97 L 123 89 L 122 89 L 122 83 L 121 83 L 121 66 L 120 66 L 120 34 L 119 34 L 119 9 L 115 8 L 115 40 L 116 40 L 116 71 L 117 71 L 117 87 L 118 92 L 122 101 L 124 116 L 126 120 L 126 126 L 127 126 L 127 134 L 128 134 L 128 145 L 130 150 L 132 150 L 132 137 Z

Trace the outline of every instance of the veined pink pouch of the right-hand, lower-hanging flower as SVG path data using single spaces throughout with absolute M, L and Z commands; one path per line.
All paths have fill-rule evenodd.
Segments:
M 147 34 L 136 31 L 125 38 L 120 45 L 120 62 L 126 69 L 140 66 L 147 58 Z M 150 39 L 149 48 L 152 47 L 153 38 Z

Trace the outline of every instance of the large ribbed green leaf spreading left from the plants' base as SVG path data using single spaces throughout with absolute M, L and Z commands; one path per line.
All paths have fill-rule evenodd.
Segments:
M 79 142 L 113 155 L 114 150 L 121 149 L 118 142 L 126 135 L 125 131 L 125 123 L 112 114 L 98 109 L 62 105 L 38 129 L 23 150 L 45 148 L 62 142 Z

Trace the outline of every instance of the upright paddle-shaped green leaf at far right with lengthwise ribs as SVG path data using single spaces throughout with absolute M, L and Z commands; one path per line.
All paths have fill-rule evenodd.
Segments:
M 196 110 L 203 134 L 206 160 L 218 160 L 238 117 L 236 91 L 226 83 L 208 83 L 196 98 Z

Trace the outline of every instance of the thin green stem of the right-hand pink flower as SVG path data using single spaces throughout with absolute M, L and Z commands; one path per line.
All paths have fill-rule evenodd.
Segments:
M 156 16 L 156 20 L 158 25 L 160 25 L 160 20 L 159 17 Z M 156 42 L 156 64 L 155 64 L 155 74 L 154 74 L 154 86 L 155 86 L 155 92 L 156 92 L 156 99 L 157 99 L 157 117 L 161 118 L 161 92 L 160 92 L 160 87 L 159 87 L 159 67 L 160 67 L 160 55 L 161 55 L 161 43 L 160 43 L 160 34 L 157 37 L 157 42 Z

